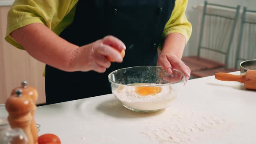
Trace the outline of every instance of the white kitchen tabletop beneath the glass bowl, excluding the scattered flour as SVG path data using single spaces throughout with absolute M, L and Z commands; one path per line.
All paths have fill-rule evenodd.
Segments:
M 256 144 L 256 91 L 214 76 L 189 80 L 181 95 L 156 113 L 128 110 L 110 94 L 40 106 L 35 117 L 39 135 L 56 134 L 62 144 L 167 144 L 143 132 L 174 113 L 186 112 L 223 119 L 227 129 L 211 131 L 213 136 L 204 136 L 207 130 L 202 130 L 200 138 L 181 144 Z

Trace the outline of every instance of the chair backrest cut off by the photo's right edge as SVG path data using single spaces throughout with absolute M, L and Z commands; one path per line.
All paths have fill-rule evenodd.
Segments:
M 236 50 L 235 68 L 240 62 L 256 59 L 256 11 L 243 8 L 239 39 Z

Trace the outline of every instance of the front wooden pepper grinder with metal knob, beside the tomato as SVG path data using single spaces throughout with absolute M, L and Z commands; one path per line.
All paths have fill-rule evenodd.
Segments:
M 8 121 L 11 128 L 21 128 L 28 137 L 28 144 L 34 144 L 30 125 L 32 121 L 32 103 L 28 95 L 23 95 L 22 90 L 16 90 L 15 95 L 11 95 L 5 107 L 9 113 Z

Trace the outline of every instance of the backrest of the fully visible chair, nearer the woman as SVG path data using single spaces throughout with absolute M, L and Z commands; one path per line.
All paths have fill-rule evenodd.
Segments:
M 214 12 L 210 10 L 209 6 L 220 10 Z M 229 7 L 207 3 L 207 1 L 205 1 L 197 52 L 198 56 L 203 53 L 202 51 L 204 51 L 204 53 L 218 53 L 225 57 L 225 64 L 227 66 L 239 10 L 240 6 Z M 229 12 L 229 14 L 225 12 Z

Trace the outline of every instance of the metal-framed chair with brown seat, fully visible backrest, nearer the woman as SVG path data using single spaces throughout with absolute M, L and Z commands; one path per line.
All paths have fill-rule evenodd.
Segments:
M 209 9 L 209 6 L 218 7 L 220 10 L 214 12 Z M 220 13 L 221 10 L 231 11 L 232 16 Z M 240 6 L 229 7 L 207 3 L 207 1 L 205 1 L 197 56 L 187 56 L 182 58 L 183 62 L 191 69 L 191 77 L 194 76 L 192 72 L 195 71 L 226 66 L 229 59 L 239 10 Z M 213 54 L 224 56 L 225 63 L 219 62 L 219 58 L 210 58 L 210 55 L 212 57 L 214 56 Z

